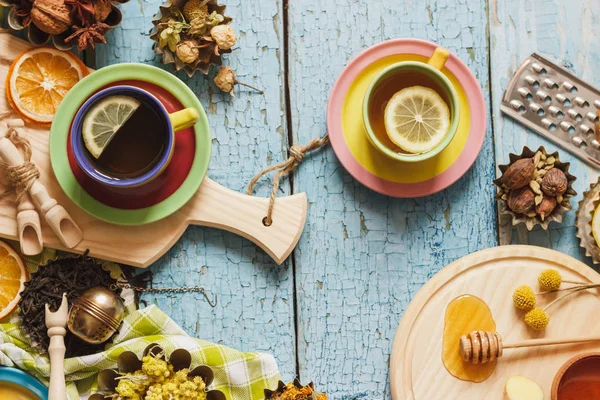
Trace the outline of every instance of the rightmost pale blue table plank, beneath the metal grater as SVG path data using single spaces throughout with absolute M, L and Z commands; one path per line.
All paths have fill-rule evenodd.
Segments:
M 534 149 L 544 146 L 549 152 L 559 151 L 561 161 L 570 161 L 570 172 L 577 177 L 574 189 L 579 195 L 571 200 L 574 211 L 565 214 L 562 225 L 552 224 L 548 231 L 539 228 L 511 227 L 510 219 L 500 220 L 501 243 L 529 243 L 551 247 L 591 265 L 575 237 L 575 210 L 582 194 L 595 182 L 598 170 L 588 167 L 566 150 L 527 131 L 504 117 L 500 104 L 504 90 L 521 62 L 533 52 L 558 61 L 575 75 L 591 84 L 600 85 L 600 3 L 589 0 L 526 1 L 491 0 L 491 74 L 493 121 L 498 164 L 508 162 L 509 153 L 520 153 L 523 146 Z M 499 171 L 498 171 L 499 173 Z

